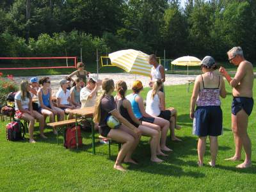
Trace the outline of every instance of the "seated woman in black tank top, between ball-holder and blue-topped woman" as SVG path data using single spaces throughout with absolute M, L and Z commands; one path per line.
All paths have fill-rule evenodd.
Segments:
M 125 93 L 127 91 L 127 84 L 124 81 L 118 81 L 116 83 L 116 106 L 119 111 L 119 113 L 128 120 L 132 125 L 140 129 L 141 134 L 143 136 L 150 136 L 150 149 L 151 149 L 151 161 L 161 163 L 163 160 L 159 159 L 157 157 L 157 154 L 161 155 L 162 152 L 157 151 L 159 147 L 160 142 L 160 131 L 157 131 L 156 129 L 152 129 L 150 127 L 146 127 L 145 125 L 142 125 L 141 121 L 138 120 L 133 112 L 132 112 L 132 106 L 131 102 L 129 100 L 125 99 Z

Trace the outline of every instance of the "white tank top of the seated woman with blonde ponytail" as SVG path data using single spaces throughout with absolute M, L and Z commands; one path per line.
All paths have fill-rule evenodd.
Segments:
M 158 116 L 161 113 L 160 99 L 157 94 L 154 96 L 154 99 L 152 99 L 152 91 L 153 90 L 150 90 L 147 94 L 146 112 L 149 115 Z

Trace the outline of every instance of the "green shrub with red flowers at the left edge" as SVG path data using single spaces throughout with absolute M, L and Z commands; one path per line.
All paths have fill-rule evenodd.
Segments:
M 0 104 L 5 104 L 6 95 L 10 92 L 17 92 L 17 83 L 12 75 L 3 77 L 3 72 L 0 72 Z

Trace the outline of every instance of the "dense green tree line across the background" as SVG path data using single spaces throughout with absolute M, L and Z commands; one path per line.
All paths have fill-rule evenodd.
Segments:
M 78 56 L 120 49 L 166 58 L 227 60 L 241 46 L 256 60 L 255 0 L 2 0 L 0 56 Z

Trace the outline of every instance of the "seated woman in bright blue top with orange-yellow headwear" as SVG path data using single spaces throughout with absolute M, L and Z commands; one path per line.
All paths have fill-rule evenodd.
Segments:
M 142 125 L 147 127 L 152 127 L 153 129 L 159 129 L 161 127 L 161 150 L 172 151 L 170 148 L 166 147 L 166 136 L 168 129 L 170 127 L 170 122 L 163 118 L 149 115 L 143 106 L 143 98 L 140 97 L 140 92 L 143 90 L 143 85 L 141 81 L 134 81 L 132 84 L 132 91 L 130 95 L 127 95 L 127 99 L 131 102 L 132 111 L 138 120 L 142 121 Z

